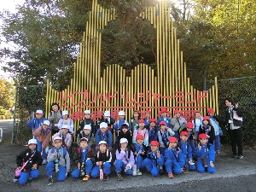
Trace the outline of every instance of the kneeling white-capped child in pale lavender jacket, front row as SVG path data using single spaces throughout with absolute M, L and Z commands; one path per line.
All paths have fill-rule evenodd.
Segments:
M 117 179 L 123 180 L 121 175 L 122 170 L 125 174 L 131 175 L 132 166 L 134 165 L 134 156 L 130 149 L 127 148 L 128 140 L 126 138 L 120 139 L 120 147 L 116 150 L 115 172 Z

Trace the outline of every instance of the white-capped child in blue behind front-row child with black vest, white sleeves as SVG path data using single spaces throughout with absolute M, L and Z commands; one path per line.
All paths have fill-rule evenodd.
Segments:
M 105 141 L 108 143 L 108 149 L 112 149 L 113 135 L 111 131 L 108 130 L 108 124 L 102 122 L 100 129 L 96 132 L 96 149 L 99 149 L 99 143 Z

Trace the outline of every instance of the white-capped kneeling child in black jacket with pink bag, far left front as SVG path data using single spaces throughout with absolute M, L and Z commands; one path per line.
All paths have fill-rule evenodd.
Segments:
M 22 151 L 16 158 L 17 169 L 22 168 L 22 170 L 20 177 L 15 177 L 14 182 L 19 181 L 20 185 L 24 185 L 28 180 L 39 177 L 38 166 L 42 165 L 43 159 L 37 151 L 37 142 L 36 139 L 29 140 L 28 148 Z

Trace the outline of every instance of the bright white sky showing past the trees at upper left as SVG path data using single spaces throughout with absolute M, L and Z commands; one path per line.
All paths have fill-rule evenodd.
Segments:
M 25 0 L 0 0 L 0 4 L 1 4 L 0 12 L 3 13 L 3 11 L 7 10 L 9 11 L 10 14 L 14 14 L 16 12 L 16 9 L 15 9 L 16 5 L 22 5 L 24 2 Z M 2 24 L 3 24 L 3 20 L 0 20 L 0 27 L 2 26 Z M 1 28 L 0 28 L 0 32 L 1 32 Z M 0 38 L 3 39 L 1 37 L 1 34 L 0 34 Z M 0 47 L 3 47 L 3 46 L 8 46 L 8 45 L 1 43 Z M 0 78 L 9 79 L 10 74 L 3 72 L 2 70 L 3 66 L 4 66 L 4 61 L 3 62 L 0 61 Z

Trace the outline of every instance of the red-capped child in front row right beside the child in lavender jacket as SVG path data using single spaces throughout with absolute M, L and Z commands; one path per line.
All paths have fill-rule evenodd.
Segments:
M 143 144 L 144 137 L 142 135 L 137 135 L 136 144 L 131 145 L 131 151 L 134 154 L 135 163 L 137 166 L 137 173 L 133 175 L 142 175 L 143 173 L 140 171 L 141 167 L 144 167 L 144 159 L 147 157 L 147 147 Z

